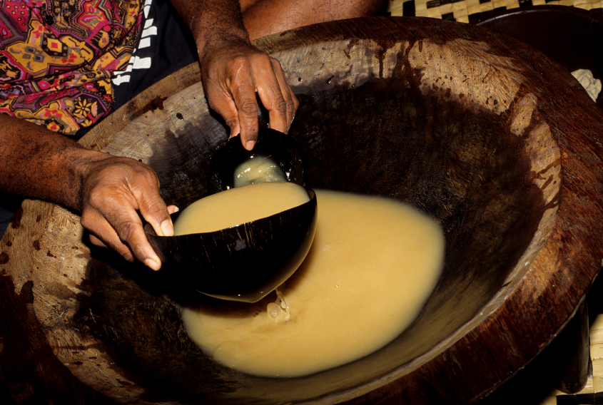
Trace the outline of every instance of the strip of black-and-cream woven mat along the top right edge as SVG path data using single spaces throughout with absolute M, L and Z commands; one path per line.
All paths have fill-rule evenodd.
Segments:
M 390 0 L 392 16 L 433 17 L 469 23 L 482 16 L 525 6 L 574 6 L 603 15 L 603 0 Z

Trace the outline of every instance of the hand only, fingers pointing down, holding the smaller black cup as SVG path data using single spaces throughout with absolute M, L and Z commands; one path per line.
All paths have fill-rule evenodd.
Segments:
M 289 87 L 280 62 L 240 39 L 206 46 L 201 56 L 201 78 L 210 108 L 240 133 L 251 150 L 258 139 L 258 93 L 268 110 L 270 128 L 287 133 L 299 102 Z

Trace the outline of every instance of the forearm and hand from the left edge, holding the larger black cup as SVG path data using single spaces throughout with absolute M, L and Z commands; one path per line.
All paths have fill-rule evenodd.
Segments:
M 143 163 L 83 148 L 39 125 L 0 114 L 0 189 L 81 212 L 95 245 L 161 267 L 136 210 L 158 235 L 173 235 L 156 174 Z M 173 212 L 174 207 L 170 207 Z

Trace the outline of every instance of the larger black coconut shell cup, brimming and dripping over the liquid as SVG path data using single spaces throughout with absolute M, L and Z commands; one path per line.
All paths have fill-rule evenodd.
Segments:
M 231 301 L 257 302 L 283 284 L 310 250 L 316 230 L 316 194 L 270 217 L 216 232 L 147 239 L 183 288 Z M 176 212 L 172 215 L 178 219 Z

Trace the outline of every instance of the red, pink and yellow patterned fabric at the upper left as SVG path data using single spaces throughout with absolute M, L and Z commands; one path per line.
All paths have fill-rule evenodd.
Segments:
M 0 113 L 72 135 L 113 103 L 143 0 L 0 0 Z

